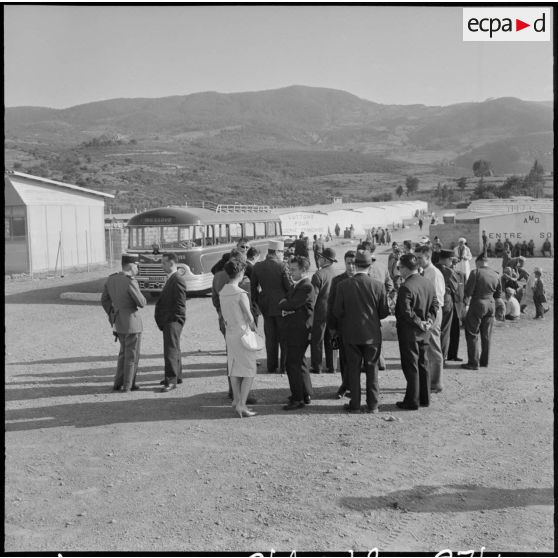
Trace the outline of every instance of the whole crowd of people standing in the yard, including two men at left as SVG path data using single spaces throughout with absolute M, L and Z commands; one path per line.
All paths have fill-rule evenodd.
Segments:
M 373 237 L 372 237 L 373 238 Z M 380 404 L 378 370 L 385 369 L 382 320 L 393 315 L 401 368 L 407 386 L 405 410 L 428 407 L 431 393 L 443 391 L 444 367 L 458 356 L 460 326 L 465 330 L 466 370 L 487 367 L 495 319 L 517 321 L 527 304 L 536 318 L 548 310 L 542 269 L 524 268 L 525 257 L 502 258 L 503 272 L 488 266 L 486 250 L 475 258 L 465 238 L 448 250 L 436 237 L 430 241 L 393 242 L 387 267 L 377 261 L 376 243 L 366 239 L 345 252 L 345 271 L 337 274 L 337 255 L 315 237 L 316 271 L 310 272 L 309 245 L 301 242 L 286 253 L 281 240 L 268 242 L 262 255 L 241 238 L 236 247 L 213 266 L 212 302 L 227 347 L 227 376 L 232 407 L 240 417 L 257 413 L 248 407 L 259 363 L 258 347 L 246 337 L 257 332 L 260 318 L 265 335 L 269 374 L 287 374 L 290 395 L 283 409 L 311 404 L 312 374 L 333 374 L 334 351 L 339 355 L 341 385 L 335 397 L 349 397 L 349 413 L 377 413 Z M 262 258 L 263 256 L 263 258 Z M 155 321 L 163 333 L 164 378 L 161 391 L 182 382 L 180 335 L 186 320 L 186 284 L 177 273 L 177 256 L 162 255 L 168 279 L 155 306 Z M 135 257 L 122 257 L 122 271 L 111 275 L 102 305 L 120 342 L 113 389 L 131 391 L 136 384 L 142 322 L 138 309 L 146 301 L 135 275 Z M 391 318 L 393 319 L 393 318 Z M 310 346 L 310 362 L 306 351 Z M 366 377 L 365 404 L 361 405 L 361 374 Z

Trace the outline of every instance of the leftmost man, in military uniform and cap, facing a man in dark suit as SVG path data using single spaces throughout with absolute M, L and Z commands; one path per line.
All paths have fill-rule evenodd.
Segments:
M 107 279 L 101 296 L 101 304 L 120 341 L 113 391 L 127 392 L 140 389 L 136 384 L 136 374 L 143 323 L 138 309 L 143 308 L 147 303 L 134 278 L 138 274 L 136 262 L 135 256 L 124 254 L 122 271 L 113 273 Z

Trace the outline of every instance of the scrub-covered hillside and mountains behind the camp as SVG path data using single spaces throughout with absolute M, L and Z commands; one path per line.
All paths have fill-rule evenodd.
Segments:
M 8 108 L 5 140 L 6 168 L 116 191 L 115 206 L 380 199 L 407 174 L 471 175 L 478 158 L 553 170 L 547 103 L 381 105 L 303 86 Z

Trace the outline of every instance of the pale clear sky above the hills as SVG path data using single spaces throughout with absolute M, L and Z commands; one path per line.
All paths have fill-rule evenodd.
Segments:
M 553 99 L 551 42 L 463 42 L 462 8 L 4 5 L 7 107 L 328 87 L 382 104 Z

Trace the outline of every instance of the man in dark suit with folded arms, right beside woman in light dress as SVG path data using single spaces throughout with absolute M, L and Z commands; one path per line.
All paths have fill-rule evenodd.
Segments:
M 287 375 L 291 396 L 285 411 L 301 409 L 310 403 L 313 395 L 312 381 L 304 353 L 310 341 L 312 313 L 314 310 L 314 287 L 308 278 L 310 261 L 303 256 L 294 256 L 289 263 L 293 286 L 279 302 L 281 310 L 281 332 L 287 348 Z

